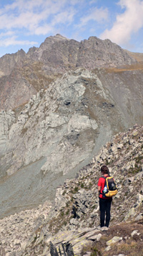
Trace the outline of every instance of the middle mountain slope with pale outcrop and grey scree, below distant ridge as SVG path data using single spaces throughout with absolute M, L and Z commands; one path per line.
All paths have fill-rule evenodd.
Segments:
M 56 186 L 114 134 L 142 124 L 142 96 L 142 71 L 79 68 L 41 89 L 20 113 L 2 111 L 1 214 L 20 202 L 53 200 Z

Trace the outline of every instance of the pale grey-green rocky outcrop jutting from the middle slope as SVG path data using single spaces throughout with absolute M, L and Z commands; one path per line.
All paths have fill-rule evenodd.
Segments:
M 62 80 L 57 80 L 45 92 L 39 91 L 22 109 L 16 122 L 9 129 L 8 143 L 9 150 L 12 145 L 13 154 L 17 155 L 18 161 L 22 155 L 21 166 L 28 165 L 45 156 L 47 161 L 42 168 L 43 171 L 47 170 L 49 166 L 50 170 L 56 168 L 57 173 L 61 171 L 67 173 L 77 165 L 75 154 L 79 155 L 77 153 L 79 150 L 81 153 L 79 162 L 84 160 L 86 155 L 89 155 L 89 148 L 92 150 L 94 147 L 94 136 L 91 138 L 84 136 L 83 153 L 83 142 L 79 141 L 80 137 L 83 137 L 82 131 L 91 130 L 94 134 L 98 128 L 96 120 L 84 111 L 86 106 L 81 102 L 84 100 L 86 91 L 84 80 L 87 81 L 88 79 L 94 80 L 97 83 L 97 89 L 102 93 L 97 76 L 79 70 L 69 76 L 65 75 Z M 79 143 L 77 147 L 75 147 L 76 143 Z M 86 147 L 88 147 L 87 153 Z M 69 170 L 67 170 L 67 165 L 64 166 L 62 162 L 61 166 L 59 165 L 57 168 L 55 159 L 57 158 L 59 161 L 59 157 L 63 158 L 64 155 L 66 157 L 67 150 L 71 155 L 71 165 L 68 160 Z M 77 152 L 75 152 L 76 150 Z M 21 151 L 21 155 L 19 155 L 19 151 Z M 49 157 L 53 158 L 53 161 L 50 161 L 51 166 L 49 165 Z M 11 175 L 21 166 L 16 167 L 15 164 L 7 170 L 7 173 Z

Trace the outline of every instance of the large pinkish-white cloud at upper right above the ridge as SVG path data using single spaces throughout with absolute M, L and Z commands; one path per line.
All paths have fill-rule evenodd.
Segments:
M 126 45 L 133 33 L 143 27 L 143 1 L 120 0 L 118 4 L 125 9 L 124 12 L 117 15 L 112 29 L 106 29 L 100 38 L 108 38 L 119 45 Z

